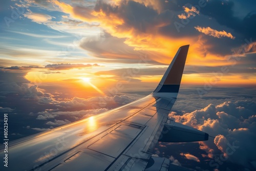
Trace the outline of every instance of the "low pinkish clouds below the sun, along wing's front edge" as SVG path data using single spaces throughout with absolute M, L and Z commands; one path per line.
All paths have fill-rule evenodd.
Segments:
M 53 118 L 71 118 L 72 120 L 79 120 L 106 112 L 108 110 L 117 108 L 120 105 L 124 105 L 136 100 L 127 95 L 115 95 L 113 97 L 92 97 L 88 99 L 74 97 L 73 99 L 67 101 L 57 101 L 53 98 L 46 99 L 46 97 L 42 96 L 38 97 L 38 102 L 42 102 L 42 98 L 44 99 L 45 104 L 51 104 L 50 107 L 52 110 L 41 111 L 33 114 L 37 115 L 37 120 L 51 120 Z M 62 122 L 49 121 L 46 123 L 53 125 L 60 124 Z

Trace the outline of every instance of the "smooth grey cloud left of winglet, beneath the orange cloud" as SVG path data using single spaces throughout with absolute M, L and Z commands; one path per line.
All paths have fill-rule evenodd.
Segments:
M 99 37 L 83 38 L 80 47 L 104 62 L 160 64 L 154 60 L 155 56 L 160 56 L 160 54 L 134 50 L 134 47 L 126 45 L 124 41 L 123 38 L 117 38 L 104 32 Z

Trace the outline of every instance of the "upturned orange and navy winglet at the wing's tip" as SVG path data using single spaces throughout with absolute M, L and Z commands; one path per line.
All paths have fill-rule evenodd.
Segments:
M 154 96 L 177 97 L 180 89 L 180 81 L 185 66 L 188 47 L 189 45 L 185 45 L 179 48 L 173 61 L 170 63 L 168 69 L 159 82 L 156 90 L 153 92 Z

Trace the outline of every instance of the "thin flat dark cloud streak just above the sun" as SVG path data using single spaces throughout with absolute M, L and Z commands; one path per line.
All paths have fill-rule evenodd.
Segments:
M 45 68 L 50 70 L 69 70 L 73 68 L 92 68 L 92 67 L 99 67 L 97 63 L 95 64 L 71 64 L 71 63 L 59 63 L 59 64 L 49 64 L 45 66 Z

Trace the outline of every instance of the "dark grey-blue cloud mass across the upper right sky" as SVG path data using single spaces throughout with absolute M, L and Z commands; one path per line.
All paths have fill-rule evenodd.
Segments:
M 238 18 L 236 11 L 233 11 L 234 2 L 170 1 L 165 3 L 159 1 L 152 3 L 151 1 L 145 1 L 143 3 L 122 1 L 118 6 L 114 6 L 103 1 L 97 1 L 95 11 L 101 10 L 106 16 L 115 15 L 121 19 L 123 23 L 114 29 L 115 33 L 111 34 L 119 38 L 126 38 L 126 42 L 131 42 L 129 46 L 134 47 L 139 47 L 139 45 L 136 45 L 135 39 L 139 39 L 138 35 L 143 36 L 143 34 L 145 34 L 145 37 L 157 34 L 166 38 L 195 38 L 201 35 L 204 43 L 211 45 L 206 48 L 208 52 L 217 55 L 230 55 L 232 48 L 241 46 L 241 42 L 245 38 L 252 38 L 255 41 L 255 13 L 250 11 L 243 19 Z M 157 9 L 154 9 L 153 4 L 157 6 Z M 191 16 L 187 20 L 180 19 L 178 15 L 184 13 L 183 6 L 197 8 L 198 14 L 192 15 L 193 17 Z M 82 13 L 78 12 L 78 14 L 83 16 Z M 177 28 L 177 23 L 181 27 Z M 226 31 L 236 38 L 216 38 L 202 35 L 195 29 L 197 26 L 210 27 L 219 32 Z M 125 34 L 121 36 L 122 32 L 126 33 L 130 30 L 132 30 L 132 33 L 129 34 L 132 34 L 132 37 L 131 35 L 125 37 Z M 112 32 L 112 30 L 109 32 Z M 147 42 L 147 38 L 144 38 L 143 41 Z M 141 43 L 143 42 L 141 41 Z M 152 44 L 152 42 L 148 43 Z M 190 42 L 190 44 L 193 43 L 195 43 L 195 40 Z M 244 43 L 242 42 L 242 44 Z

